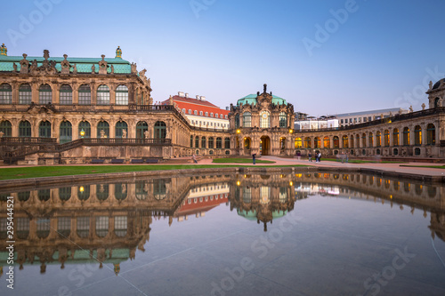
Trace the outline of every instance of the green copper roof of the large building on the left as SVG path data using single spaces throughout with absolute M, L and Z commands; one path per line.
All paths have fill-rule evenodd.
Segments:
M 0 55 L 0 72 L 12 72 L 13 63 L 17 65 L 17 71 L 20 71 L 20 60 L 23 57 L 19 56 L 3 56 Z M 33 60 L 37 61 L 37 67 L 42 66 L 44 61 L 43 57 L 27 57 L 29 63 Z M 57 64 L 55 68 L 61 71 L 61 61 L 64 60 L 60 57 L 50 57 L 48 60 L 54 60 Z M 91 73 L 91 68 L 94 65 L 94 72 L 99 73 L 99 62 L 101 58 L 67 58 L 69 64 L 74 66 L 76 64 L 77 73 Z M 108 63 L 107 73 L 111 73 L 110 66 L 113 65 L 114 73 L 116 74 L 130 74 L 132 73 L 132 68 L 128 60 L 122 60 L 120 58 L 115 59 L 104 59 Z M 72 68 L 71 68 L 72 71 Z

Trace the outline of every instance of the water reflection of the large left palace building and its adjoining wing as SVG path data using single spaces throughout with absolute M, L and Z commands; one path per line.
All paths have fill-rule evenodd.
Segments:
M 171 225 L 192 190 L 214 188 L 208 194 L 216 194 L 222 190 L 222 184 L 215 182 L 214 176 L 204 176 L 198 180 L 182 177 L 85 182 L 61 188 L 2 192 L 0 248 L 5 250 L 6 246 L 6 200 L 13 196 L 14 261 L 20 269 L 34 262 L 40 262 L 42 273 L 47 264 L 61 264 L 64 268 L 73 263 L 97 263 L 100 267 L 113 263 L 118 273 L 120 262 L 134 260 L 136 249 L 145 251 L 153 219 L 166 219 Z M 219 202 L 227 201 L 227 188 L 225 183 Z M 0 259 L 6 257 L 6 252 L 0 252 Z

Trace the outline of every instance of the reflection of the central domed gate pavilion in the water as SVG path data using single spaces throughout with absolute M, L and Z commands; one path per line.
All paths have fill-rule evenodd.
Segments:
M 292 175 L 239 175 L 232 181 L 231 210 L 239 216 L 267 223 L 294 209 L 295 192 Z

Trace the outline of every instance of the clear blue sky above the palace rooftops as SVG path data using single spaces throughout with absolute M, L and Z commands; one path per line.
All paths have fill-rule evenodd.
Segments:
M 445 76 L 444 12 L 443 0 L 8 1 L 0 43 L 98 58 L 120 45 L 155 101 L 181 91 L 224 108 L 266 83 L 312 116 L 417 110 Z

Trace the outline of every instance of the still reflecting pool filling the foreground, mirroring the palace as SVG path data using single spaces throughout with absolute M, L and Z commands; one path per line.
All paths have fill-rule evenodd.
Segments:
M 444 239 L 443 185 L 366 174 L 20 188 L 0 294 L 445 295 Z

